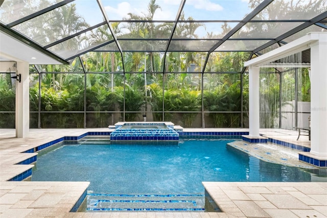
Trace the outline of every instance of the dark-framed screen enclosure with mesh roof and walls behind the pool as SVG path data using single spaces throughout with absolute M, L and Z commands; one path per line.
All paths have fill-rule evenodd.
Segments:
M 183 127 L 248 128 L 244 62 L 327 31 L 326 1 L 0 4 L 0 127 L 18 128 L 18 136 L 144 116 Z M 309 122 L 310 48 L 283 61 L 293 66 L 260 71 L 261 128 Z

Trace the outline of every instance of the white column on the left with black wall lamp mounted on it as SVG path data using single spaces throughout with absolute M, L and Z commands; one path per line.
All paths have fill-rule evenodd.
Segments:
M 30 131 L 29 63 L 17 62 L 17 74 L 21 82 L 16 81 L 16 137 L 25 138 Z

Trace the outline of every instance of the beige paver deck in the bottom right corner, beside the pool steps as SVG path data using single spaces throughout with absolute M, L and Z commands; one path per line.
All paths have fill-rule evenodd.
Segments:
M 327 211 L 327 183 L 323 182 L 202 184 L 222 212 L 237 217 L 324 217 Z

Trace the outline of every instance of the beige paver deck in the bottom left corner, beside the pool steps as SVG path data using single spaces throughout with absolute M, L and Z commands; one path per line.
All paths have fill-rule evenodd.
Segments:
M 88 185 L 89 182 L 0 182 L 0 190 L 11 187 L 0 198 L 0 216 L 45 217 L 55 213 L 59 217 L 71 211 Z M 60 204 L 61 201 L 71 204 Z

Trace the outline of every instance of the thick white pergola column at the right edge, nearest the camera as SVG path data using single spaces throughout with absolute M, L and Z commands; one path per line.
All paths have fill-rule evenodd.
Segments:
M 311 151 L 327 156 L 327 34 L 311 47 Z

